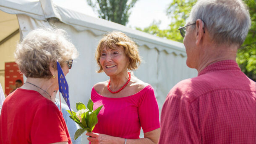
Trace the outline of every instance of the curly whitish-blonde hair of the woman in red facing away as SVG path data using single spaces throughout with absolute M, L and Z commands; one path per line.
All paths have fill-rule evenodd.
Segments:
M 63 67 L 65 61 L 76 59 L 78 51 L 62 29 L 35 29 L 18 44 L 15 61 L 26 77 L 50 78 L 50 63 L 57 69 L 57 61 Z

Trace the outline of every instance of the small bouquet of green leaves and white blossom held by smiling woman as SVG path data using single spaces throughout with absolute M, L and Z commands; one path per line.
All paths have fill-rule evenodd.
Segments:
M 93 102 L 89 99 L 87 108 L 84 103 L 77 102 L 76 109 L 78 112 L 68 111 L 71 115 L 69 116 L 73 121 L 75 121 L 81 129 L 78 129 L 75 133 L 74 139 L 76 140 L 84 131 L 91 132 L 94 126 L 98 123 L 98 113 L 103 105 L 93 111 Z

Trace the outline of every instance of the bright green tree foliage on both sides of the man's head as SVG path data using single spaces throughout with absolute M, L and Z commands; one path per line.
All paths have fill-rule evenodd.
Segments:
M 167 8 L 167 15 L 170 18 L 170 25 L 168 29 L 159 29 L 161 21 L 153 23 L 146 28 L 136 28 L 137 30 L 151 33 L 155 36 L 165 37 L 174 41 L 183 41 L 183 37 L 180 36 L 178 28 L 185 25 L 185 20 L 188 18 L 192 6 L 197 0 L 173 0 Z M 252 80 L 256 81 L 256 9 L 255 0 L 243 0 L 248 5 L 251 15 L 251 29 L 248 32 L 245 42 L 238 50 L 237 62 L 241 70 Z

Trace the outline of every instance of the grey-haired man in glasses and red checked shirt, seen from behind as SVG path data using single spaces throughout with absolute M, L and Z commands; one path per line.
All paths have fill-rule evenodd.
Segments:
M 242 0 L 199 0 L 184 37 L 188 67 L 198 77 L 167 95 L 159 144 L 255 144 L 256 83 L 241 72 L 236 52 L 251 20 Z

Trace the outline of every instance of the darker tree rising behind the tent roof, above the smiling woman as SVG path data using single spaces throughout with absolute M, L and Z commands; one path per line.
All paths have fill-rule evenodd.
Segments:
M 94 11 L 97 11 L 99 18 L 126 25 L 131 12 L 129 11 L 137 0 L 87 0 Z

